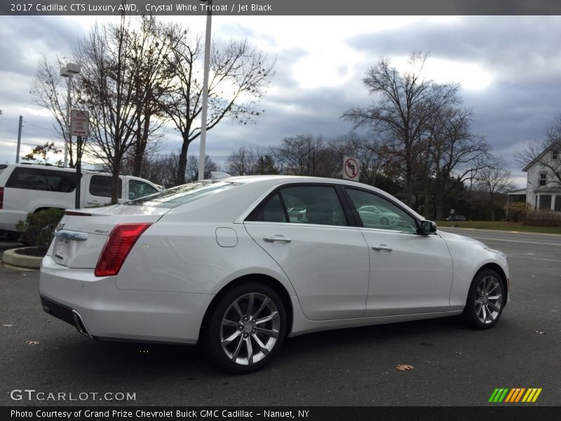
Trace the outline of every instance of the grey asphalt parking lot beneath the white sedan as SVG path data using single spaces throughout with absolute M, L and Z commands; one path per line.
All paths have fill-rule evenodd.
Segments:
M 99 394 L 80 405 L 482 406 L 497 387 L 539 387 L 532 405 L 560 405 L 561 236 L 445 230 L 508 255 L 511 302 L 493 329 L 449 318 L 314 333 L 242 376 L 220 372 L 195 347 L 83 337 L 42 311 L 39 272 L 3 265 L 0 405 L 76 404 L 11 399 L 35 389 Z M 108 392 L 135 400 L 99 401 Z

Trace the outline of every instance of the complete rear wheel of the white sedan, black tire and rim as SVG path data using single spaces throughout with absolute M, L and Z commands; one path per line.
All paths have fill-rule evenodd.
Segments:
M 205 326 L 205 349 L 218 366 L 230 373 L 259 370 L 283 344 L 286 310 L 269 286 L 236 286 L 211 311 Z

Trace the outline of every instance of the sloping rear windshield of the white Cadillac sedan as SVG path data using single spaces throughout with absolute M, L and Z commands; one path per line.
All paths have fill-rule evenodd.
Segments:
M 199 181 L 191 182 L 186 185 L 173 187 L 171 189 L 151 194 L 150 196 L 143 197 L 124 203 L 128 206 L 151 206 L 154 208 L 176 208 L 177 206 L 189 203 L 196 199 L 200 199 L 211 193 L 220 192 L 222 190 L 231 189 L 239 185 L 234 182 L 208 182 Z

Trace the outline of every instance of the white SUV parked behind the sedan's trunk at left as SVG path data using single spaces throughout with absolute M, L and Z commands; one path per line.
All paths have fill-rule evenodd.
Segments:
M 161 191 L 143 178 L 120 175 L 119 202 Z M 15 225 L 28 213 L 46 208 L 74 208 L 76 170 L 27 163 L 0 164 L 0 232 L 17 238 Z M 80 207 L 111 201 L 111 175 L 82 170 Z

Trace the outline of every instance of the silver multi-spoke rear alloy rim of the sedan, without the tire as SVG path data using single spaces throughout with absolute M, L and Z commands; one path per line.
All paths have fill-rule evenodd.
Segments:
M 241 295 L 228 307 L 220 326 L 222 350 L 233 363 L 250 366 L 275 347 L 280 315 L 275 302 L 262 293 Z

